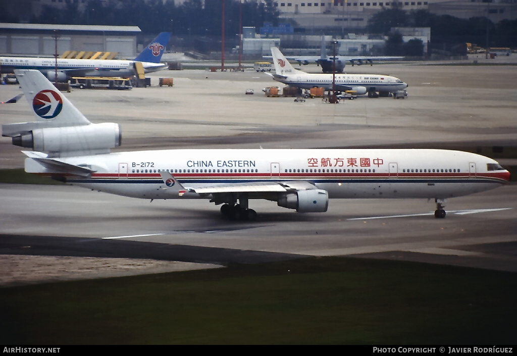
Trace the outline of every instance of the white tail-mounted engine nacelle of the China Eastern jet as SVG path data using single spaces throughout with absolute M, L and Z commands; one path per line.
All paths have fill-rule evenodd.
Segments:
M 120 146 L 118 124 L 37 128 L 12 138 L 12 144 L 39 152 L 105 152 Z

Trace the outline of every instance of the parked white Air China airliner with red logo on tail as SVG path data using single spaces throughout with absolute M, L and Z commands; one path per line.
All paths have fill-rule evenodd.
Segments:
M 368 93 L 369 97 L 376 97 L 377 93 L 379 96 L 388 96 L 407 87 L 399 78 L 378 74 L 306 73 L 295 69 L 278 48 L 271 47 L 271 54 L 275 65 L 275 74 L 271 74 L 273 79 L 302 89 L 324 87 L 325 91 L 330 91 L 334 85 L 337 91 L 352 90 L 358 95 Z

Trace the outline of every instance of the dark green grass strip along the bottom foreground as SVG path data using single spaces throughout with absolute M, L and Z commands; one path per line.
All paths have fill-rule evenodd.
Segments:
M 0 343 L 514 344 L 517 274 L 354 258 L 0 288 Z

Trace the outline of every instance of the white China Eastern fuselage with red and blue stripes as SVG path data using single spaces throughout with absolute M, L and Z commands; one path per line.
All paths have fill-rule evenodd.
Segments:
M 112 194 L 146 198 L 200 198 L 189 188 L 249 182 L 313 183 L 329 198 L 446 199 L 506 183 L 508 171 L 473 153 L 426 149 L 164 150 L 61 158 L 88 166 L 91 177 L 67 183 Z M 164 184 L 170 172 L 187 192 Z M 27 158 L 26 171 L 49 173 Z

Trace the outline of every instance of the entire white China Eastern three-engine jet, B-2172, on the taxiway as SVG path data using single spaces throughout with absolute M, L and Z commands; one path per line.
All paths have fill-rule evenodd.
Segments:
M 90 123 L 36 70 L 17 70 L 36 122 L 2 126 L 23 151 L 25 171 L 71 185 L 144 199 L 209 199 L 221 213 L 253 219 L 250 199 L 300 213 L 326 212 L 330 198 L 443 202 L 507 183 L 509 172 L 473 153 L 423 149 L 162 150 L 114 152 L 117 124 Z

